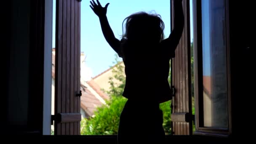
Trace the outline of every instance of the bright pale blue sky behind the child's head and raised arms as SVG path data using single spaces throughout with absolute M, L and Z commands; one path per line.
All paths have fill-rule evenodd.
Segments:
M 55 48 L 55 0 L 53 0 L 53 48 Z M 139 11 L 160 14 L 165 23 L 165 36 L 170 35 L 170 0 L 100 0 L 101 5 L 110 3 L 107 10 L 109 24 L 120 39 L 122 35 L 123 20 Z M 99 18 L 89 7 L 89 0 L 81 2 L 81 51 L 85 53 L 86 67 L 91 71 L 91 76 L 96 76 L 112 66 L 115 51 L 108 45 L 101 32 Z M 192 12 L 192 9 L 191 9 Z M 192 18 L 191 18 L 192 19 Z M 192 28 L 192 27 L 191 27 Z M 192 31 L 192 29 L 191 29 Z M 191 37 L 192 39 L 192 37 Z

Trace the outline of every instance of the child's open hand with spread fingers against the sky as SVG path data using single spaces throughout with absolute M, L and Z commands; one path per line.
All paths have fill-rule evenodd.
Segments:
M 94 0 L 90 1 L 90 3 L 91 3 L 91 5 L 90 5 L 91 9 L 97 16 L 99 16 L 99 17 L 106 16 L 107 7 L 108 7 L 109 3 L 107 3 L 105 5 L 105 7 L 101 6 L 101 4 L 99 3 L 99 0 L 97 0 L 98 5 L 94 2 Z

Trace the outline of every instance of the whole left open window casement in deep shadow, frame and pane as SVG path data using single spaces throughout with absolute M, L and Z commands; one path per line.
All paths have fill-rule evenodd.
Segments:
M 43 131 L 44 0 L 6 4 L 6 133 Z

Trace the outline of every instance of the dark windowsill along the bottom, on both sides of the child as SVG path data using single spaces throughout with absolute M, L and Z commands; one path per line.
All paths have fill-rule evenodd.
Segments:
M 19 139 L 19 141 L 22 141 L 24 139 L 24 142 L 29 140 L 32 140 L 35 138 L 35 141 L 41 141 L 43 144 L 52 143 L 54 140 L 57 140 L 56 142 L 61 143 L 62 141 L 67 143 L 67 141 L 70 141 L 72 143 L 82 142 L 85 144 L 117 144 L 117 135 L 105 135 L 105 136 L 15 136 L 15 139 Z M 40 139 L 42 138 L 42 140 Z M 74 139 L 75 138 L 75 139 Z M 8 140 L 10 140 L 8 138 Z M 209 137 L 209 136 L 166 136 L 166 142 L 165 144 L 198 144 L 200 140 L 200 143 L 203 144 L 218 144 L 223 142 L 229 142 L 232 139 L 227 138 L 216 138 L 216 137 Z M 154 144 L 154 143 L 153 143 Z M 157 143 L 155 143 L 157 144 Z

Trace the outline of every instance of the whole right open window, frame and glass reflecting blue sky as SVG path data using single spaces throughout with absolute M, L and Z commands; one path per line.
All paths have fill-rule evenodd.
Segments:
M 227 0 L 195 0 L 196 133 L 227 135 L 229 51 Z

